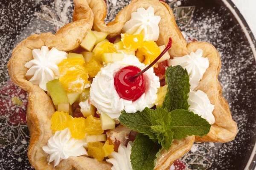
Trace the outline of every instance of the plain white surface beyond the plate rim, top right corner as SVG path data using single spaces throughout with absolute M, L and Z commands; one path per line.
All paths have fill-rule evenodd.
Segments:
M 253 35 L 256 36 L 256 0 L 233 0 L 233 3 L 244 16 Z

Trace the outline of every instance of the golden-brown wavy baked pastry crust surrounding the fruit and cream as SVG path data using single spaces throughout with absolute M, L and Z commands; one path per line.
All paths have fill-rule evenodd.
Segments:
M 38 85 L 33 85 L 26 77 L 28 70 L 24 65 L 32 57 L 32 50 L 46 45 L 49 48 L 55 47 L 61 51 L 70 51 L 79 47 L 81 40 L 92 28 L 96 31 L 109 33 L 109 37 L 114 37 L 121 33 L 124 24 L 131 18 L 131 13 L 137 8 L 148 8 L 152 6 L 155 14 L 161 16 L 160 36 L 158 45 L 166 45 L 169 37 L 172 37 L 173 44 L 169 50 L 172 57 L 180 57 L 196 51 L 197 48 L 204 50 L 204 57 L 208 57 L 210 66 L 204 74 L 203 79 L 197 89 L 204 91 L 212 104 L 215 105 L 213 114 L 215 124 L 211 131 L 203 138 L 188 136 L 181 141 L 174 141 L 172 147 L 162 151 L 157 159 L 156 170 L 164 170 L 173 161 L 182 157 L 190 150 L 194 140 L 202 142 L 227 142 L 232 140 L 237 133 L 236 123 L 232 120 L 227 102 L 222 98 L 221 86 L 218 82 L 218 73 L 221 68 L 220 57 L 216 49 L 206 42 L 192 42 L 186 44 L 180 30 L 177 28 L 175 17 L 171 8 L 158 0 L 133 0 L 130 5 L 123 8 L 116 16 L 116 20 L 105 25 L 104 19 L 107 14 L 105 2 L 103 0 L 74 0 L 75 8 L 73 13 L 73 23 L 69 23 L 56 32 L 35 34 L 20 42 L 13 50 L 13 54 L 8 63 L 9 74 L 12 81 L 28 91 L 29 105 L 27 110 L 27 122 L 30 131 L 30 144 L 28 150 L 29 161 L 32 166 L 46 170 L 110 170 L 111 164 L 99 162 L 85 156 L 70 157 L 63 160 L 57 167 L 52 163 L 47 164 L 47 153 L 44 153 L 42 146 L 47 144 L 52 136 L 51 116 L 55 111 L 49 96 Z M 93 19 L 94 17 L 94 19 Z

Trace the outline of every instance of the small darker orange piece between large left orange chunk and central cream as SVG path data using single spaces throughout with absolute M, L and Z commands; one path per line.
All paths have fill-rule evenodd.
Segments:
M 95 77 L 102 67 L 103 65 L 101 62 L 99 62 L 99 60 L 95 57 L 90 59 L 90 61 L 85 65 L 85 69 L 87 70 L 90 77 Z

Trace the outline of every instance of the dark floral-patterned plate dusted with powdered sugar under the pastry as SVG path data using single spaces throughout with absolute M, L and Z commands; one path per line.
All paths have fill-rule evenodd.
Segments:
M 108 17 L 106 22 L 115 18 L 115 14 L 129 2 L 107 1 Z M 241 31 L 243 25 L 237 25 L 235 13 L 230 13 L 227 2 L 212 1 L 204 4 L 202 1 L 166 1 L 174 9 L 177 23 L 183 36 L 190 41 L 207 41 L 215 45 L 220 51 L 222 70 L 219 80 L 223 87 L 224 97 L 229 102 L 233 118 L 238 122 L 239 134 L 233 142 L 227 144 L 195 144 L 192 150 L 182 159 L 176 161 L 172 169 L 244 169 L 250 167 L 253 157 L 255 136 L 253 131 L 253 112 L 255 112 L 255 74 L 256 70 L 250 35 Z M 1 60 L 4 65 L 10 57 L 7 51 L 17 45 L 30 34 L 50 31 L 54 33 L 58 28 L 71 21 L 73 4 L 69 0 L 48 1 L 37 0 L 31 2 L 11 3 L 19 10 L 18 20 L 10 16 L 11 6 L 5 4 L 8 22 L 3 24 L 4 34 L 1 37 Z M 16 7 L 15 7 L 16 6 Z M 22 6 L 22 7 L 21 7 Z M 212 8 L 215 6 L 215 8 Z M 201 8 L 203 7 L 203 8 Z M 207 8 L 208 7 L 208 8 Z M 20 9 L 21 8 L 21 9 Z M 221 10 L 219 10 L 221 9 Z M 31 16 L 26 17 L 27 11 Z M 8 15 L 7 15 L 8 14 Z M 6 18 L 1 18 L 5 21 Z M 12 24 L 13 22 L 13 24 Z M 2 22 L 3 23 L 3 22 Z M 20 24 L 18 28 L 17 23 Z M 242 23 L 242 22 L 241 22 Z M 13 26 L 13 27 L 12 27 Z M 17 29 L 15 35 L 12 29 Z M 9 32 L 8 32 L 9 31 Z M 245 31 L 245 29 L 244 29 Z M 12 37 L 11 37 L 12 36 Z M 253 51 L 254 49 L 254 51 Z M 1 147 L 3 169 L 14 167 L 29 169 L 26 160 L 26 149 L 29 133 L 26 128 L 26 93 L 9 81 L 6 68 L 1 68 Z M 254 77 L 253 77 L 254 76 Z M 250 87 L 251 86 L 251 87 Z M 12 94 L 12 96 L 11 96 Z M 246 96 L 246 97 L 245 97 Z M 254 97 L 254 99 L 253 99 Z M 246 143 L 247 145 L 244 145 Z M 253 152 L 254 153 L 254 152 Z M 247 155 L 247 156 L 244 156 Z M 11 160 L 12 164 L 7 163 Z M 248 163 L 248 164 L 247 164 Z M 19 168 L 19 169 L 20 169 Z

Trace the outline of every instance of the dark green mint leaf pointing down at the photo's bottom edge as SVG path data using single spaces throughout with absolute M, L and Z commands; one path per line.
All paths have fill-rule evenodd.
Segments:
M 138 133 L 131 147 L 131 166 L 133 170 L 154 170 L 155 159 L 161 145 L 148 136 Z

